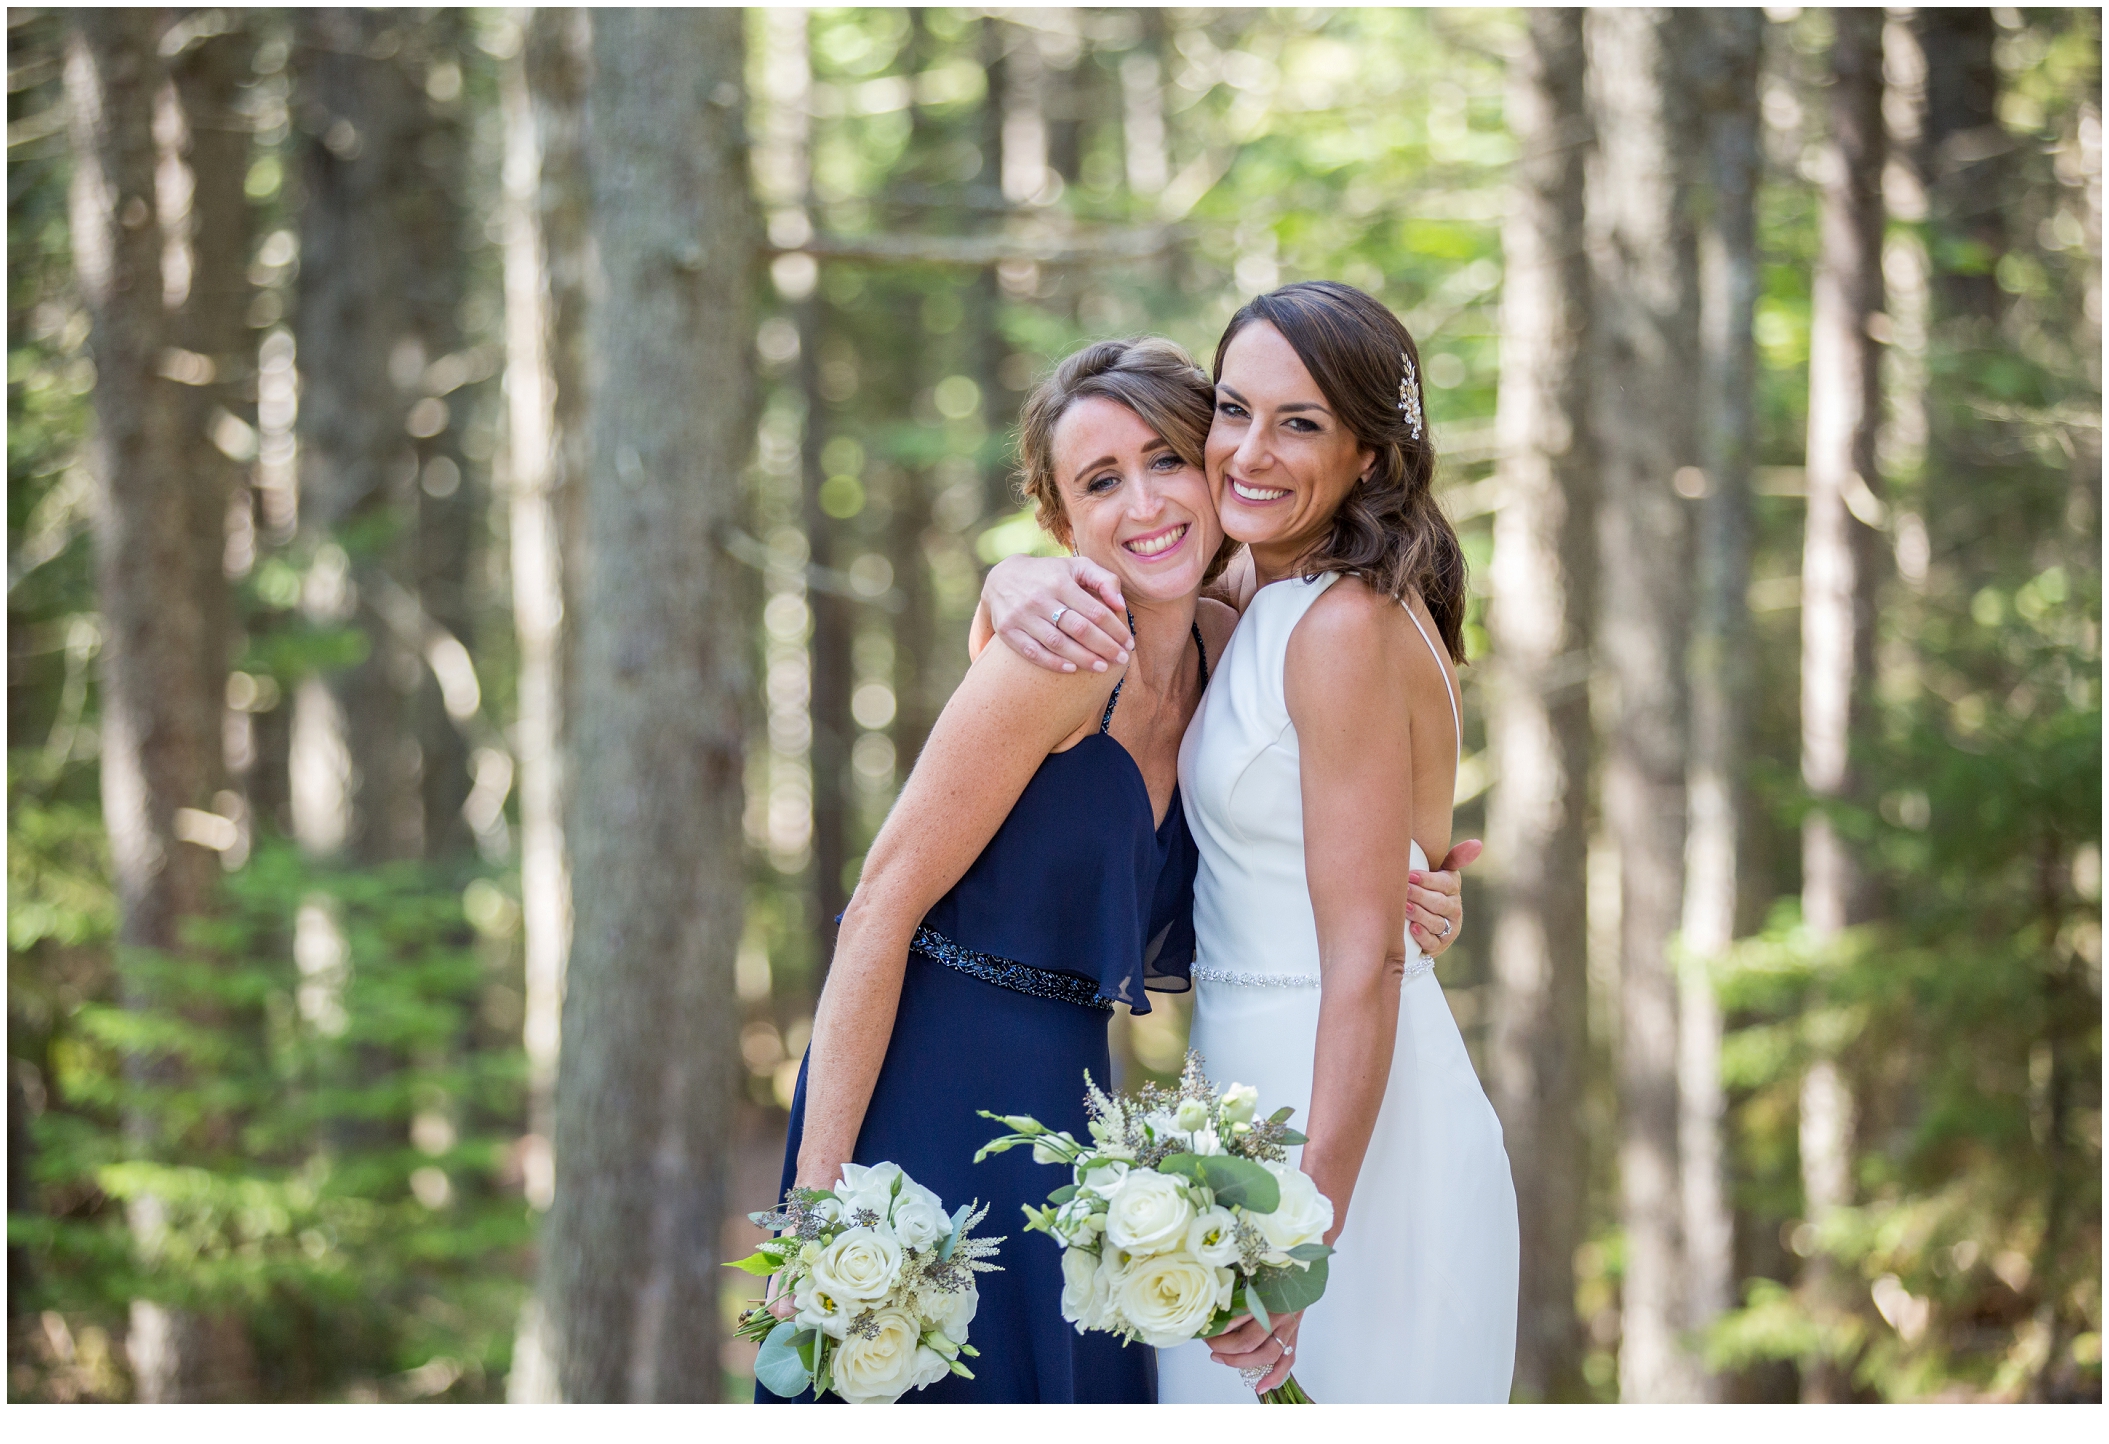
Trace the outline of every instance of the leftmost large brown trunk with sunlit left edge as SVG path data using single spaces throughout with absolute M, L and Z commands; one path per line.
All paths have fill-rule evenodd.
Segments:
M 89 312 L 95 426 L 86 468 L 95 489 L 95 590 L 101 611 L 101 791 L 118 896 L 118 949 L 173 951 L 205 913 L 217 860 L 192 841 L 219 784 L 219 708 L 226 616 L 219 548 L 202 565 L 200 476 L 186 464 L 188 407 L 162 375 L 175 337 L 165 312 L 162 236 L 154 226 L 154 103 L 167 82 L 156 11 L 78 11 L 67 36 L 72 126 L 72 247 Z M 224 523 L 224 493 L 215 514 Z M 215 533 L 217 535 L 217 533 Z M 211 660 L 219 660 L 217 679 Z M 152 1008 L 133 970 L 122 1001 Z M 152 1081 L 143 1065 L 135 1084 Z M 156 1138 L 129 1124 L 131 1147 Z M 152 1269 L 169 1206 L 139 1195 L 129 1208 Z M 245 1341 L 234 1320 L 135 1299 L 127 1336 L 133 1385 L 146 1402 L 217 1400 L 243 1391 Z

